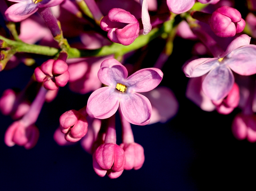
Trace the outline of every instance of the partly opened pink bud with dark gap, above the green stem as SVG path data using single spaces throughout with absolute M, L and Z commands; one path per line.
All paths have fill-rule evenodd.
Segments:
M 128 11 L 111 9 L 100 22 L 102 30 L 108 32 L 108 38 L 122 45 L 130 45 L 139 36 L 139 22 Z

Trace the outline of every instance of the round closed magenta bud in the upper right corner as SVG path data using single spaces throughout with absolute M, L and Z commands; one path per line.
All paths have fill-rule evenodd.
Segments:
M 245 21 L 238 10 L 223 6 L 213 12 L 210 27 L 219 37 L 233 37 L 244 30 Z

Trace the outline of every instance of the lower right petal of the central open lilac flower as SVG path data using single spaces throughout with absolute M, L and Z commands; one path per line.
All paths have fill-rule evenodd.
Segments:
M 124 118 L 134 125 L 147 125 L 150 121 L 152 107 L 145 96 L 127 93 L 120 100 L 120 107 Z

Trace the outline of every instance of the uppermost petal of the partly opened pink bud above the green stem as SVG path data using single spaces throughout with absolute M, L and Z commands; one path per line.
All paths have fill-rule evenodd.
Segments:
M 138 20 L 128 11 L 120 8 L 111 9 L 108 12 L 108 18 L 112 22 L 121 22 L 121 23 L 138 23 Z

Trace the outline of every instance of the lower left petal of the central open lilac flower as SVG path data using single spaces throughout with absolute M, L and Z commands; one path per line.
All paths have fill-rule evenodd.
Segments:
M 93 118 L 106 119 L 114 115 L 119 106 L 120 95 L 111 87 L 103 87 L 94 91 L 87 102 L 86 111 Z

